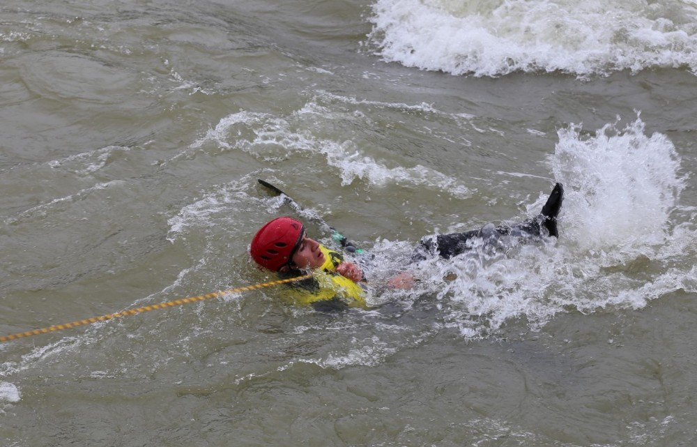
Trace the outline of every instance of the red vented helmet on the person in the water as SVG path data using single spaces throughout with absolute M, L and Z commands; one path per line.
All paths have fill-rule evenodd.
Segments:
M 250 254 L 262 267 L 279 271 L 289 264 L 296 252 L 305 227 L 292 218 L 276 218 L 256 232 L 252 239 Z

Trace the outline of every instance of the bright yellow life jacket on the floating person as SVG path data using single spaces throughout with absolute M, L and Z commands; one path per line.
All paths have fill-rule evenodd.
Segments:
M 312 305 L 321 301 L 338 301 L 342 306 L 365 308 L 365 290 L 357 283 L 337 273 L 337 266 L 344 262 L 341 252 L 319 245 L 324 254 L 324 264 L 312 271 L 313 277 L 291 282 L 284 298 L 295 305 Z

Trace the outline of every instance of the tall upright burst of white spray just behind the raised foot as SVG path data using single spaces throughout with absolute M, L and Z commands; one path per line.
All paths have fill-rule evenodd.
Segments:
M 644 134 L 636 119 L 624 129 L 608 124 L 595 137 L 581 137 L 581 126 L 558 132 L 552 160 L 565 184 L 565 236 L 581 248 L 636 256 L 664 243 L 669 213 L 684 179 L 680 158 L 665 135 Z

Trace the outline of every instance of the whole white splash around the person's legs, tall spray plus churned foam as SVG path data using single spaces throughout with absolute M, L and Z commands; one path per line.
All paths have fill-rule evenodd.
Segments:
M 643 308 L 672 291 L 696 289 L 685 257 L 697 250 L 697 229 L 671 221 L 685 179 L 668 138 L 646 135 L 641 119 L 625 128 L 608 123 L 590 136 L 572 125 L 558 135 L 550 160 L 566 189 L 558 241 L 498 251 L 480 246 L 415 266 L 422 282 L 412 298 L 435 296 L 445 325 L 467 338 L 496 333 L 512 319 L 535 329 L 569 309 Z M 547 194 L 528 206 L 528 217 Z M 393 261 L 378 275 L 388 278 L 408 263 L 403 245 L 378 241 L 381 259 Z

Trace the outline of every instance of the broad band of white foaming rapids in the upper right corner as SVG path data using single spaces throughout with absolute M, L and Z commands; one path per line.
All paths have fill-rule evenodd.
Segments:
M 453 75 L 697 70 L 697 7 L 680 0 L 377 0 L 385 61 Z

